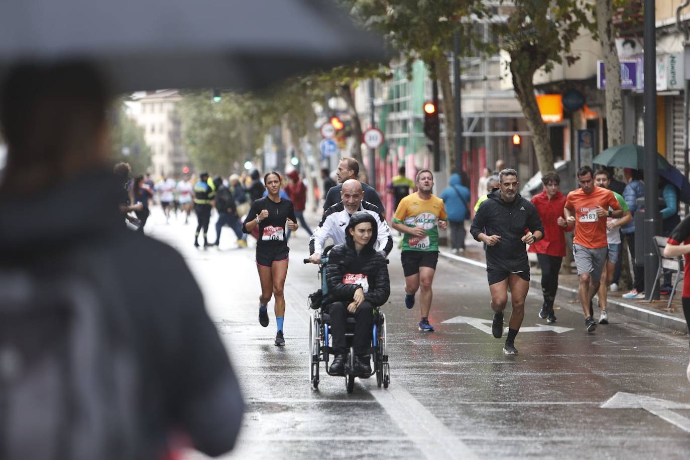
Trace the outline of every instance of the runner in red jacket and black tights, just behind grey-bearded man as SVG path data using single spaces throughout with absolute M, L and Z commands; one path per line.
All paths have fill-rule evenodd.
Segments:
M 539 312 L 541 319 L 555 323 L 553 301 L 558 290 L 558 272 L 565 256 L 565 232 L 573 230 L 568 227 L 563 215 L 565 195 L 559 190 L 560 177 L 553 171 L 542 176 L 544 191 L 532 198 L 544 225 L 544 239 L 533 243 L 528 252 L 535 252 L 542 269 L 542 292 L 544 303 Z

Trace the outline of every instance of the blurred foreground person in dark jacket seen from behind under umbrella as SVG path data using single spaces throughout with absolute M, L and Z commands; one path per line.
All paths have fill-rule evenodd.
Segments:
M 180 439 L 219 455 L 242 422 L 184 261 L 122 226 L 108 103 L 81 63 L 15 66 L 0 88 L 3 460 L 163 459 Z

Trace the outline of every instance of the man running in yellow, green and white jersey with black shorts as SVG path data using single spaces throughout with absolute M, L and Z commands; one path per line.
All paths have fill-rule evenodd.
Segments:
M 415 306 L 415 293 L 422 288 L 422 332 L 433 330 L 433 325 L 428 321 L 428 314 L 433 299 L 431 283 L 438 261 L 438 228 L 445 229 L 448 225 L 443 200 L 431 194 L 432 188 L 431 171 L 417 172 L 417 192 L 400 201 L 393 217 L 393 228 L 404 234 L 400 259 L 405 274 L 407 308 Z

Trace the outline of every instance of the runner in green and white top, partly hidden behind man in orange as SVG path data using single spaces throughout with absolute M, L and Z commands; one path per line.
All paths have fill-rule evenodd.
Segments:
M 605 169 L 600 169 L 594 174 L 594 183 L 598 187 L 609 188 L 611 185 L 611 176 L 609 172 Z M 610 190 L 610 189 L 609 189 Z M 628 203 L 625 202 L 622 195 L 614 192 L 613 196 L 618 200 L 620 208 L 623 210 L 623 217 L 620 219 L 613 219 L 613 217 L 607 218 L 606 228 L 607 228 L 607 242 L 609 243 L 609 254 L 607 256 L 607 261 L 604 263 L 604 270 L 602 270 L 601 286 L 599 286 L 599 308 L 601 308 L 601 316 L 599 317 L 600 324 L 609 323 L 609 314 L 606 311 L 607 305 L 607 295 L 609 291 L 609 285 L 613 280 L 613 272 L 615 271 L 616 263 L 620 259 L 622 241 L 620 239 L 620 227 L 629 223 L 633 220 L 633 215 L 630 213 L 628 208 Z M 610 208 L 609 208 L 610 209 Z M 592 305 L 589 309 L 589 314 L 594 314 L 594 306 Z

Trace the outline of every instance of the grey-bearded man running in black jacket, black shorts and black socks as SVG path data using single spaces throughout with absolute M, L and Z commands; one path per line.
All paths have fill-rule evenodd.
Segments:
M 477 210 L 470 233 L 475 240 L 486 243 L 486 274 L 493 310 L 491 332 L 496 339 L 503 335 L 503 311 L 511 290 L 513 312 L 503 353 L 517 354 L 515 336 L 524 319 L 529 291 L 529 260 L 524 245 L 544 238 L 544 228 L 537 208 L 517 193 L 517 172 L 504 169 L 498 179 L 499 190 L 489 193 Z

